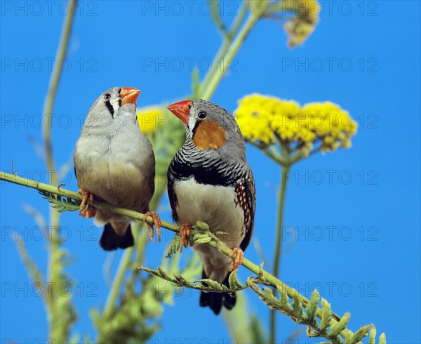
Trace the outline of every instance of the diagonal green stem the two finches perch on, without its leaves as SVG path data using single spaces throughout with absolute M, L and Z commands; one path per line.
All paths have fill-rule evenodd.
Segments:
M 69 190 L 61 189 L 61 188 L 55 187 L 53 185 L 39 183 L 36 180 L 29 180 L 29 179 L 22 178 L 22 177 L 19 177 L 19 176 L 14 176 L 13 174 L 10 174 L 10 173 L 0 172 L 0 180 L 6 180 L 9 183 L 15 183 L 15 184 L 23 185 L 23 186 L 26 186 L 26 187 L 32 187 L 33 189 L 36 189 L 36 190 L 39 190 L 39 191 L 47 191 L 47 192 L 51 192 L 53 194 L 57 194 L 59 196 L 69 197 L 69 198 L 74 199 L 74 200 L 79 201 L 79 202 L 82 199 L 81 194 L 79 194 L 77 192 L 72 192 L 72 191 L 69 191 Z M 117 206 L 112 206 L 111 204 L 108 204 L 105 201 L 94 200 L 93 205 L 96 208 L 105 209 L 105 210 L 108 210 L 108 211 L 112 211 L 113 213 L 118 213 L 118 214 L 124 215 L 124 216 L 129 216 L 131 218 L 134 218 L 135 220 L 141 220 L 142 221 L 143 218 L 145 217 L 144 214 L 142 214 L 142 213 L 137 213 L 136 211 L 131 211 L 131 210 L 128 210 L 128 209 L 119 208 Z M 146 220 L 147 223 L 150 223 L 150 224 L 154 223 L 153 219 L 150 216 L 147 216 L 145 220 Z M 166 228 L 166 229 L 171 230 L 171 231 L 176 232 L 176 233 L 180 232 L 180 227 L 178 225 L 173 225 L 172 223 L 168 223 L 166 221 L 161 221 L 161 227 Z M 213 241 L 210 241 L 206 244 L 215 248 L 215 249 L 220 250 L 226 256 L 229 256 L 229 253 L 231 253 L 232 250 L 229 249 L 229 247 L 224 242 L 222 242 L 220 239 L 218 239 L 218 237 L 215 237 L 215 235 L 212 234 L 212 237 L 213 237 Z M 283 288 L 286 291 L 287 295 L 290 298 L 293 298 L 294 295 L 297 295 L 298 298 L 300 299 L 300 302 L 305 307 L 307 307 L 307 305 L 309 305 L 309 300 L 307 298 L 305 298 L 305 296 L 302 296 L 300 293 L 298 293 L 298 291 L 296 291 L 295 289 L 291 288 L 290 286 L 284 284 L 278 278 L 276 278 L 274 275 L 269 274 L 269 272 L 266 272 L 262 268 L 258 267 L 258 265 L 255 265 L 254 263 L 252 263 L 247 258 L 243 258 L 243 261 L 242 261 L 241 265 L 243 265 L 243 267 L 246 267 L 246 269 L 250 270 L 254 274 L 258 274 L 259 276 L 264 277 L 269 283 L 274 284 L 274 285 L 279 284 L 281 286 L 281 288 Z M 317 314 L 317 317 L 321 318 L 321 308 L 317 309 L 316 314 Z M 338 322 L 338 320 L 340 319 L 340 317 L 338 315 L 335 315 L 335 314 L 333 314 L 333 317 L 334 317 L 333 324 L 335 322 Z

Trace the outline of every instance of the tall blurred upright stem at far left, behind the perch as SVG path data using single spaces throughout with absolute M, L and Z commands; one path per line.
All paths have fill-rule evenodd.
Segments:
M 51 128 L 52 128 L 52 114 L 55 102 L 55 95 L 57 93 L 58 82 L 60 81 L 61 69 L 59 62 L 65 58 L 67 53 L 67 45 L 69 43 L 70 33 L 72 32 L 72 25 L 74 22 L 74 14 L 76 9 L 76 0 L 69 1 L 69 13 L 63 24 L 62 34 L 60 37 L 60 44 L 58 45 L 58 51 L 55 55 L 55 65 L 51 74 L 51 79 L 48 86 L 48 93 L 44 102 L 44 148 L 45 148 L 45 159 L 46 166 L 51 176 L 51 183 L 53 185 L 58 184 L 57 171 L 55 170 L 55 162 L 53 158 L 53 148 L 51 143 Z M 58 259 L 58 250 L 60 249 L 60 238 L 58 237 L 58 227 L 60 223 L 60 213 L 51 208 L 50 210 L 50 226 L 51 226 L 51 241 L 48 250 L 48 281 L 53 282 L 58 280 L 60 275 L 60 259 Z M 48 310 L 48 332 L 51 338 L 68 337 L 67 324 L 60 322 L 60 314 L 58 314 L 58 302 L 55 300 L 60 296 L 56 293 L 51 293 L 51 296 L 47 298 L 46 306 Z

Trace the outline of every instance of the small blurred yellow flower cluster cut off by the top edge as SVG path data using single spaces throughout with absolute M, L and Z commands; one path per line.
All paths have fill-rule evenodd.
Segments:
M 283 25 L 288 34 L 288 46 L 293 48 L 304 43 L 314 31 L 319 22 L 320 5 L 316 0 L 287 0 L 282 3 L 283 8 L 295 12 L 295 16 Z

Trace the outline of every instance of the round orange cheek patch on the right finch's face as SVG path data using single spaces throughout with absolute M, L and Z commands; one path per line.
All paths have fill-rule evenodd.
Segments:
M 196 128 L 193 143 L 200 150 L 218 149 L 227 143 L 225 130 L 210 119 L 205 119 Z

